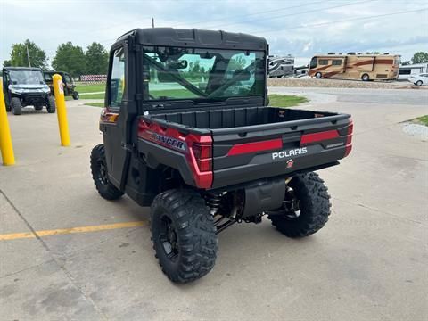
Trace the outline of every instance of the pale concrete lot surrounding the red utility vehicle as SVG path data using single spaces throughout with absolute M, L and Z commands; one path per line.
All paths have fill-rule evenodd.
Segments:
M 428 114 L 428 91 L 347 90 L 271 90 L 352 114 L 350 157 L 319 172 L 333 202 L 325 228 L 292 240 L 268 220 L 232 226 L 215 268 L 185 285 L 154 259 L 148 208 L 95 191 L 99 108 L 67 102 L 68 148 L 55 115 L 10 116 L 17 165 L 0 167 L 0 319 L 428 319 L 428 142 L 401 124 Z

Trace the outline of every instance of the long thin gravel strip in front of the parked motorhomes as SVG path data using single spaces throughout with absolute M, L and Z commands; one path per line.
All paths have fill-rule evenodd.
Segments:
M 281 78 L 268 79 L 268 86 L 292 87 L 334 87 L 334 88 L 373 88 L 373 89 L 428 89 L 428 86 L 414 86 L 408 81 L 360 81 L 317 78 Z

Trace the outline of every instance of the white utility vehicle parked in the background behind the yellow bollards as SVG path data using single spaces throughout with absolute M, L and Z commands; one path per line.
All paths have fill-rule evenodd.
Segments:
M 55 112 L 55 100 L 41 69 L 4 67 L 3 86 L 6 111 L 12 111 L 13 115 L 21 115 L 22 108 L 30 105 L 36 111 L 45 106 L 47 112 Z

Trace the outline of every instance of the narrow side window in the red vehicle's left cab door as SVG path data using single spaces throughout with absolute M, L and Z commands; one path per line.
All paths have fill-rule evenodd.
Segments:
M 125 92 L 125 53 L 123 48 L 115 50 L 111 66 L 110 106 L 120 107 Z

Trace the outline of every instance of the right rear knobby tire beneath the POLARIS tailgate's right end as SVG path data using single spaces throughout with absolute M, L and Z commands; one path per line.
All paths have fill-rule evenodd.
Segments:
M 272 225 L 282 234 L 298 238 L 316 233 L 325 226 L 330 215 L 330 195 L 316 173 L 296 175 L 289 183 L 298 200 L 300 215 L 293 217 L 286 210 L 282 215 L 269 215 Z

